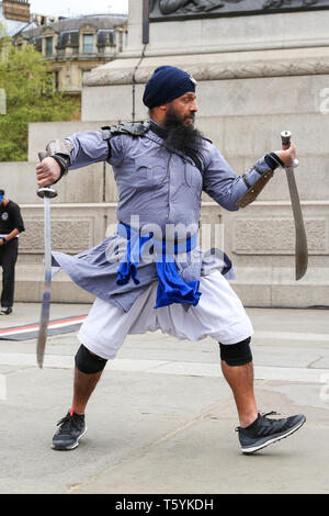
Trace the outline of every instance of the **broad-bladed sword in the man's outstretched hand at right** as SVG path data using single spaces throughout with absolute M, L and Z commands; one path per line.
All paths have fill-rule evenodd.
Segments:
M 286 150 L 291 146 L 292 133 L 290 131 L 283 131 L 281 133 L 282 148 Z M 286 179 L 288 183 L 292 207 L 295 221 L 295 279 L 300 280 L 307 271 L 308 263 L 308 248 L 307 237 L 304 226 L 303 212 L 296 186 L 296 179 L 294 175 L 294 167 L 298 165 L 296 159 L 292 167 L 285 167 Z

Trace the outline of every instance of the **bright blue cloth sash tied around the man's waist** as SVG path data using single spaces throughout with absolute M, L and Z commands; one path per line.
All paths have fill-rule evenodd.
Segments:
M 135 284 L 139 284 L 137 277 L 138 263 L 141 253 L 147 244 L 154 246 L 156 254 L 156 267 L 159 280 L 157 291 L 157 304 L 155 309 L 168 306 L 173 303 L 188 303 L 196 306 L 201 296 L 198 292 L 198 281 L 185 282 L 178 272 L 174 255 L 178 253 L 189 253 L 196 247 L 197 234 L 184 242 L 168 242 L 154 238 L 154 234 L 140 235 L 140 231 L 135 231 L 126 224 L 117 225 L 117 234 L 127 238 L 127 250 L 120 262 L 116 284 L 127 284 L 131 279 Z

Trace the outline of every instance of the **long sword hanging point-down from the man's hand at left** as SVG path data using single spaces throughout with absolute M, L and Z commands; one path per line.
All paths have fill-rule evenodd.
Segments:
M 48 157 L 48 154 L 38 153 L 41 161 Z M 47 328 L 49 323 L 50 292 L 52 292 L 52 226 L 50 226 L 50 199 L 56 198 L 57 191 L 54 188 L 45 187 L 37 190 L 37 195 L 44 200 L 44 240 L 45 240 L 45 282 L 42 301 L 42 312 L 38 327 L 36 359 L 39 368 L 44 363 L 44 355 L 47 340 Z

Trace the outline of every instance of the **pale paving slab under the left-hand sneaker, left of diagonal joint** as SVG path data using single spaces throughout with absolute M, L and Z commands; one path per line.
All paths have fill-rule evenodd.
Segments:
M 1 493 L 65 493 L 224 403 L 224 382 L 107 372 L 88 411 L 77 450 L 50 449 L 56 422 L 70 406 L 71 371 L 35 368 L 8 377 L 1 402 Z M 174 394 L 174 395 L 173 395 Z

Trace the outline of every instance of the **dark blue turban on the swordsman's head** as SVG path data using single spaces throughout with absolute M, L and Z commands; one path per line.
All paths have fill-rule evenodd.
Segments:
M 145 87 L 143 102 L 148 109 L 167 104 L 174 99 L 195 92 L 196 80 L 184 70 L 174 66 L 160 66 Z

